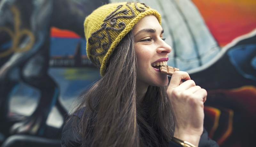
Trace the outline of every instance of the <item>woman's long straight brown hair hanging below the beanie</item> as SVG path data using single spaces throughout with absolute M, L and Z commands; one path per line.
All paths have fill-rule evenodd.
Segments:
M 74 113 L 82 146 L 167 146 L 174 122 L 166 87 L 149 86 L 145 98 L 136 95 L 137 59 L 129 32 L 112 54 L 106 74 L 83 95 Z M 79 123 L 76 123 L 76 122 Z

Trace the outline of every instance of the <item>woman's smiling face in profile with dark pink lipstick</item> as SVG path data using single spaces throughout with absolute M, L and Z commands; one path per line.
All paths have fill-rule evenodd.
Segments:
M 139 85 L 162 87 L 168 84 L 167 75 L 161 74 L 159 69 L 153 67 L 158 63 L 166 64 L 168 53 L 172 50 L 171 46 L 164 42 L 163 32 L 154 15 L 142 18 L 133 27 Z

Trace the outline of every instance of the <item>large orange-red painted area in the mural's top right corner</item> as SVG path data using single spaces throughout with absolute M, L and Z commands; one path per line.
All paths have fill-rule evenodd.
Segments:
M 256 28 L 255 0 L 192 0 L 220 46 Z

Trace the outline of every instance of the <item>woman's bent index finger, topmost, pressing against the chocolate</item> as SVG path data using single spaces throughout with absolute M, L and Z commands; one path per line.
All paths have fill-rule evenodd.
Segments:
M 175 71 L 172 74 L 172 78 L 170 80 L 169 87 L 170 88 L 178 87 L 180 85 L 180 81 L 182 79 L 190 80 L 190 77 L 189 77 L 188 73 L 187 72 L 183 72 L 183 71 Z

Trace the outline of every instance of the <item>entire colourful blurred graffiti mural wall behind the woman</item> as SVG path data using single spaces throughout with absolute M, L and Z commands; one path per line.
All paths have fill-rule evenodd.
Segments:
M 65 118 L 100 78 L 86 56 L 84 18 L 120 1 L 0 1 L 0 145 L 60 146 Z M 209 136 L 223 147 L 252 146 L 256 2 L 139 2 L 162 15 L 165 41 L 172 46 L 168 65 L 187 71 L 208 91 Z

